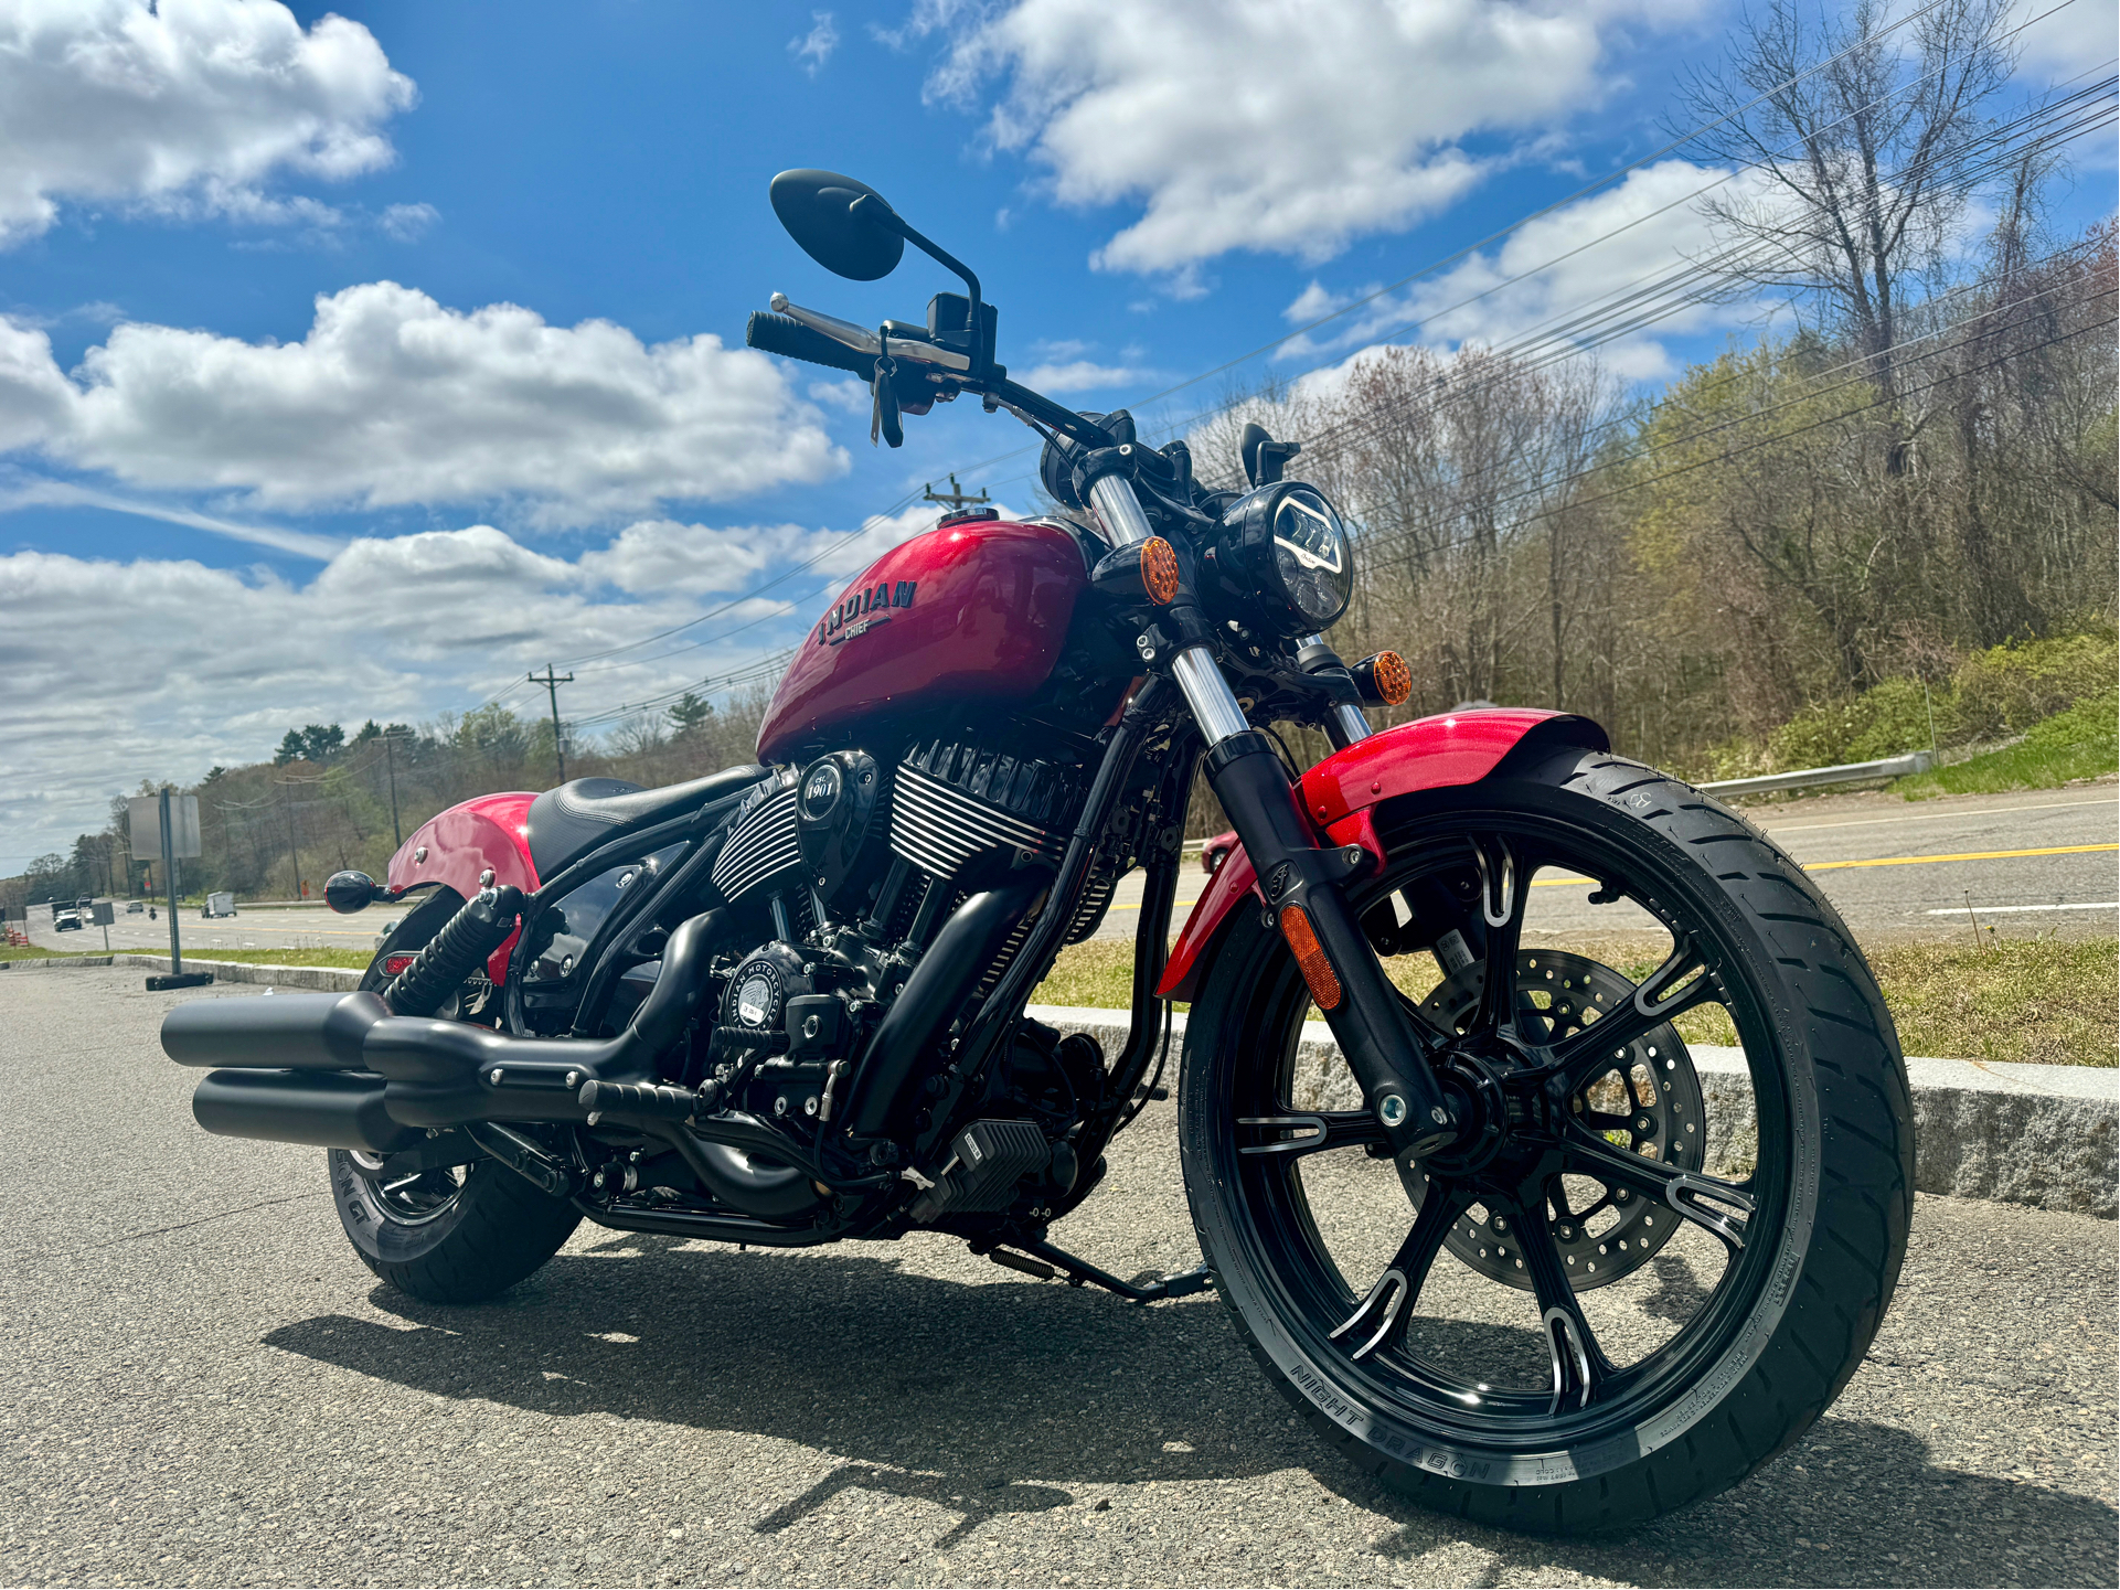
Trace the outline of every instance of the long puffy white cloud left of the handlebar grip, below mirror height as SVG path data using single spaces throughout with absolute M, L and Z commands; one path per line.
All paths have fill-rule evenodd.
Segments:
M 763 354 L 394 282 L 320 297 L 299 343 L 121 324 L 72 375 L 0 316 L 0 449 L 23 447 L 261 509 L 507 502 L 549 526 L 846 466 Z

